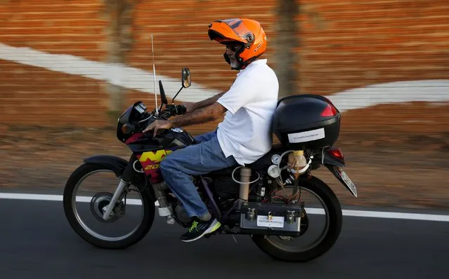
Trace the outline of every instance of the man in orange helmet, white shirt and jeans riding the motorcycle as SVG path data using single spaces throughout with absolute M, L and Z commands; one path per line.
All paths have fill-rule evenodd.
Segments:
M 268 67 L 266 34 L 259 22 L 249 19 L 216 20 L 209 25 L 209 38 L 226 46 L 224 57 L 231 69 L 240 70 L 229 90 L 193 104 L 187 114 L 168 121 L 157 120 L 143 132 L 206 123 L 226 113 L 214 132 L 195 138 L 198 144 L 178 149 L 164 158 L 160 170 L 165 182 L 183 203 L 190 229 L 184 242 L 197 240 L 221 224 L 202 202 L 190 175 L 202 175 L 233 165 L 253 163 L 272 146 L 271 118 L 278 102 L 278 78 Z

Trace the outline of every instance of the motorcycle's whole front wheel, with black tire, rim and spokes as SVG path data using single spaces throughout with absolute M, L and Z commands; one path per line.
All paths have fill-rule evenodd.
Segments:
M 94 179 L 93 181 L 97 184 L 82 191 L 83 196 L 77 197 L 76 193 L 79 191 L 82 182 L 100 172 L 106 172 L 109 176 Z M 102 219 L 105 207 L 109 204 L 118 184 L 119 179 L 110 166 L 84 163 L 77 170 L 74 170 L 65 185 L 63 195 L 65 217 L 79 236 L 96 247 L 123 249 L 134 245 L 148 233 L 154 221 L 155 205 L 152 203 L 149 190 L 138 191 L 136 189 L 131 192 L 129 190 L 134 189 L 132 185 L 125 187 L 124 190 L 129 191 L 129 193 L 126 194 L 125 198 L 117 200 L 118 203 L 112 210 L 110 219 L 108 221 Z M 110 191 L 105 189 L 106 186 L 111 187 Z M 93 196 L 87 197 L 88 194 L 93 194 Z M 132 195 L 135 198 L 129 197 Z M 77 202 L 81 205 L 78 206 Z M 84 210 L 82 210 L 82 205 L 86 207 Z M 81 217 L 82 213 L 86 213 L 86 219 Z M 125 215 L 131 215 L 129 216 L 131 221 L 134 219 L 137 223 L 131 226 L 129 231 L 124 229 L 131 224 L 129 219 L 124 218 Z M 96 224 L 88 224 L 89 221 Z M 112 236 L 115 233 L 112 228 L 113 225 L 117 226 L 118 235 Z

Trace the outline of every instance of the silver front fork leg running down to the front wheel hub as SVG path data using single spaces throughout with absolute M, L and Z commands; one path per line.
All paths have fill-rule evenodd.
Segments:
M 128 187 L 131 185 L 131 179 L 134 176 L 134 172 L 137 170 L 134 169 L 134 165 L 136 163 L 136 156 L 131 155 L 129 160 L 129 164 L 126 165 L 125 170 L 122 173 L 122 177 L 120 178 L 119 185 L 115 189 L 114 195 L 112 196 L 109 204 L 103 207 L 103 219 L 108 220 L 111 217 L 112 210 L 114 210 L 115 205 L 117 205 L 117 201 L 122 200 L 125 194 L 128 192 Z

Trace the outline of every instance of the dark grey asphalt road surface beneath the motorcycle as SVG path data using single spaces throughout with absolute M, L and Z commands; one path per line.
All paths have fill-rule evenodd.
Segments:
M 248 236 L 178 240 L 156 218 L 127 250 L 100 250 L 59 201 L 0 200 L 0 278 L 448 278 L 449 222 L 344 217 L 337 244 L 306 264 L 275 261 Z

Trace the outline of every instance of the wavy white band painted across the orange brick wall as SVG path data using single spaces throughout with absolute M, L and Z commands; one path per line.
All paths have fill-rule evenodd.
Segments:
M 34 67 L 42 67 L 65 74 L 109 81 L 124 88 L 150 94 L 154 93 L 152 72 L 134 67 L 126 67 L 120 64 L 105 64 L 103 62 L 86 60 L 74 55 L 44 53 L 32 48 L 7 46 L 3 43 L 0 43 L 0 59 Z M 181 72 L 181 69 L 179 71 Z M 165 93 L 168 97 L 174 97 L 181 87 L 180 79 L 156 75 L 156 81 L 159 80 L 162 80 Z M 158 91 L 159 87 L 156 86 L 156 88 Z M 219 91 L 192 82 L 192 86 L 183 90 L 176 99 L 196 102 L 217 93 Z M 363 109 L 377 104 L 400 102 L 449 102 L 449 79 L 380 83 L 363 88 L 344 90 L 326 97 L 340 111 Z

